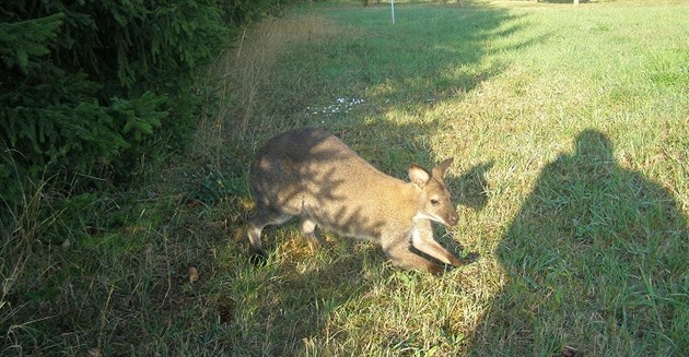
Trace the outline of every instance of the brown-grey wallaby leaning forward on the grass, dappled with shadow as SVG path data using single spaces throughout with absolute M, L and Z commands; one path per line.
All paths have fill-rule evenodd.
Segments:
M 411 165 L 411 182 L 405 182 L 378 171 L 323 129 L 278 135 L 261 148 L 249 172 L 256 201 L 247 228 L 252 251 L 267 258 L 262 228 L 300 216 L 301 233 L 312 247 L 320 226 L 377 242 L 396 266 L 433 274 L 458 266 L 433 239 L 431 227 L 431 221 L 454 226 L 459 219 L 443 181 L 452 162 L 445 159 L 431 172 Z

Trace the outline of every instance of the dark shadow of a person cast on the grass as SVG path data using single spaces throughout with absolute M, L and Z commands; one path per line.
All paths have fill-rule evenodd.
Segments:
M 547 165 L 495 254 L 474 355 L 687 355 L 687 217 L 596 130 Z

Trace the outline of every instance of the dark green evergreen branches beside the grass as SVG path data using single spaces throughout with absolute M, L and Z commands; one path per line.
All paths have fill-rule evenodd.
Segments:
M 5 0 L 0 8 L 0 195 L 58 171 L 125 178 L 180 142 L 192 78 L 240 26 L 285 0 Z

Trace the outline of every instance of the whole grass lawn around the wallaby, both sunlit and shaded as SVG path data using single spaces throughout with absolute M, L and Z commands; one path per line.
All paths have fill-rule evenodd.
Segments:
M 218 115 L 187 155 L 83 212 L 15 215 L 3 353 L 686 356 L 686 19 L 677 1 L 465 1 L 398 2 L 395 25 L 359 2 L 266 20 L 209 70 Z M 436 237 L 472 262 L 435 278 L 284 225 L 252 265 L 248 165 L 301 126 L 399 178 L 455 157 L 460 222 Z

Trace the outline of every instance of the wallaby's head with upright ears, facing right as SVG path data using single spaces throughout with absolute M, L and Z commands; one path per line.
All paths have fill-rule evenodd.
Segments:
M 418 214 L 446 226 L 454 226 L 459 221 L 457 211 L 452 204 L 449 192 L 447 192 L 443 181 L 445 171 L 452 162 L 453 158 L 445 159 L 435 166 L 431 172 L 418 165 L 409 167 L 409 179 L 420 189 Z

